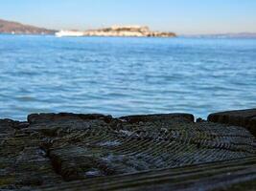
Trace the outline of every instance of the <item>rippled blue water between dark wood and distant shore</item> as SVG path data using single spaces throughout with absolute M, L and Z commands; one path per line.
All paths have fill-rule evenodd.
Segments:
M 0 35 L 0 118 L 256 107 L 256 39 Z

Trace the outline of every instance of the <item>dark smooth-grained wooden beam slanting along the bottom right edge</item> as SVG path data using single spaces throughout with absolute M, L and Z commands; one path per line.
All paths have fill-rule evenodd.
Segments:
M 38 190 L 220 190 L 248 181 L 256 181 L 256 158 L 72 181 Z

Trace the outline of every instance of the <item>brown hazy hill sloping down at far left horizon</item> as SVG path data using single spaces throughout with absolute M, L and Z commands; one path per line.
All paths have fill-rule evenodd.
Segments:
M 0 19 L 0 33 L 54 34 L 56 31 Z

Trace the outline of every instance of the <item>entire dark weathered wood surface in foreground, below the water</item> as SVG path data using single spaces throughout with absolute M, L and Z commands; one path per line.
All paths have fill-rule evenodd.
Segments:
M 0 190 L 252 190 L 255 130 L 256 109 L 0 119 Z

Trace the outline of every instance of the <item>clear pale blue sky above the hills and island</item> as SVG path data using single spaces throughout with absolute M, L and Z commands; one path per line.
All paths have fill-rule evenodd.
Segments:
M 147 25 L 178 34 L 256 32 L 256 0 L 0 0 L 0 18 L 55 30 Z

